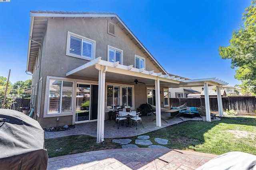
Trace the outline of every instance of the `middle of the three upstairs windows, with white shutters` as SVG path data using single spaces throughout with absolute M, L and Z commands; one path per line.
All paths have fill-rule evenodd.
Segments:
M 123 51 L 108 45 L 108 61 L 111 63 L 115 63 L 119 61 L 119 64 L 122 64 L 122 60 L 123 60 Z

